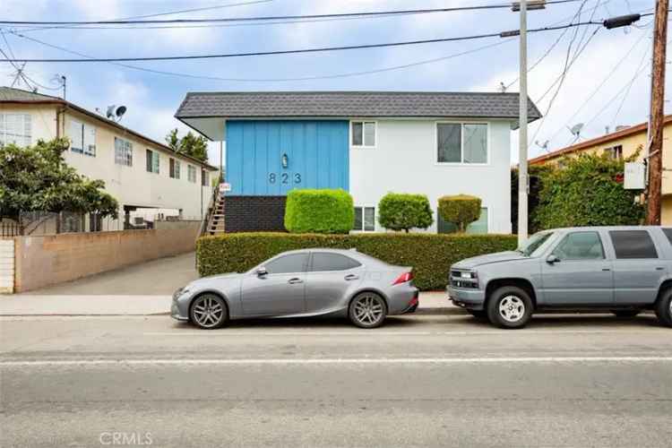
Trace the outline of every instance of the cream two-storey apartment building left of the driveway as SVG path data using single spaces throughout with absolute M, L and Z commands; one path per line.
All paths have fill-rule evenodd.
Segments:
M 0 144 L 28 146 L 63 136 L 71 141 L 66 163 L 104 180 L 119 202 L 119 220 L 85 220 L 84 229 L 124 229 L 137 217 L 155 215 L 202 220 L 216 168 L 64 99 L 0 87 Z

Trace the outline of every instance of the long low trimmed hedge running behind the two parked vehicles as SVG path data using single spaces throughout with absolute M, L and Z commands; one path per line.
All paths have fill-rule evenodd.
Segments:
M 512 235 L 435 235 L 376 233 L 356 235 L 292 235 L 231 233 L 201 237 L 196 243 L 202 276 L 249 271 L 280 252 L 309 247 L 357 248 L 387 263 L 413 266 L 419 289 L 443 289 L 452 263 L 480 254 L 516 247 Z

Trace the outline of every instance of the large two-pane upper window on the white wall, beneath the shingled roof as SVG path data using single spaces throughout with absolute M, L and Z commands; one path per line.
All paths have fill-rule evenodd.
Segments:
M 438 163 L 487 163 L 487 124 L 437 123 Z

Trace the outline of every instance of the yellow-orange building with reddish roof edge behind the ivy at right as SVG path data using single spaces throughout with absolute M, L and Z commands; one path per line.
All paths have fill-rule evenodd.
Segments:
M 663 224 L 672 224 L 672 176 L 668 169 L 672 169 L 672 153 L 670 153 L 669 139 L 672 138 L 672 115 L 665 116 L 663 129 L 663 182 L 662 182 L 662 207 L 660 220 Z M 576 143 L 557 151 L 552 151 L 534 159 L 530 159 L 530 165 L 545 165 L 547 163 L 562 163 L 564 157 L 573 157 L 582 152 L 594 154 L 607 154 L 616 159 L 627 159 L 638 148 L 640 151 L 638 160 L 642 161 L 647 142 L 647 123 L 633 126 L 620 126 L 614 133 L 604 134 L 594 139 Z

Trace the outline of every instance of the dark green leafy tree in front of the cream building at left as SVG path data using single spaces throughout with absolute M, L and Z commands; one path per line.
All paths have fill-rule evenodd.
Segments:
M 105 182 L 77 174 L 65 164 L 67 139 L 39 141 L 22 148 L 0 147 L 0 217 L 22 211 L 76 211 L 117 218 L 116 199 Z

